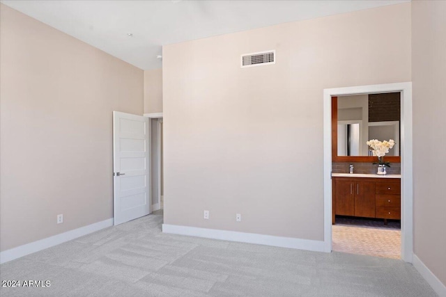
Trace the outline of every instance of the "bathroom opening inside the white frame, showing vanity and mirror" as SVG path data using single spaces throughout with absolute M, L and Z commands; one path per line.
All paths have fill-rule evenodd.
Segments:
M 401 259 L 400 122 L 400 92 L 332 97 L 334 251 Z M 387 175 L 376 174 L 370 139 L 395 143 Z

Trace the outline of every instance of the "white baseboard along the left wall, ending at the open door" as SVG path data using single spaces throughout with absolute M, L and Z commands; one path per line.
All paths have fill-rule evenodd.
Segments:
M 93 223 L 91 225 L 80 227 L 75 230 L 70 230 L 68 232 L 47 237 L 46 239 L 40 239 L 38 241 L 26 243 L 23 246 L 17 246 L 17 248 L 4 250 L 3 252 L 0 252 L 0 264 L 32 254 L 33 252 L 38 252 L 39 250 L 45 250 L 45 248 L 57 246 L 58 244 L 64 243 L 66 241 L 77 239 L 80 236 L 84 236 L 86 234 L 90 234 L 111 226 L 113 226 L 113 218 L 102 220 L 98 223 Z

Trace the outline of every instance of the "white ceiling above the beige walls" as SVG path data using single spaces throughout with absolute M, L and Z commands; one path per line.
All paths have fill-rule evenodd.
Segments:
M 162 54 L 163 45 L 407 1 L 410 0 L 3 0 L 1 3 L 136 67 L 150 70 L 162 67 L 157 55 Z

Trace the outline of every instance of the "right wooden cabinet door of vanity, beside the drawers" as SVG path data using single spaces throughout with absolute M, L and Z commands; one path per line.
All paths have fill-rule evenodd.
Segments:
M 355 216 L 375 217 L 375 183 L 355 182 Z

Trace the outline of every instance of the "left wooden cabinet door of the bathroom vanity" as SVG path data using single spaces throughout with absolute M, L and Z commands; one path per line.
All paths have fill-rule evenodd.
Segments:
M 355 216 L 355 182 L 334 180 L 334 214 Z

